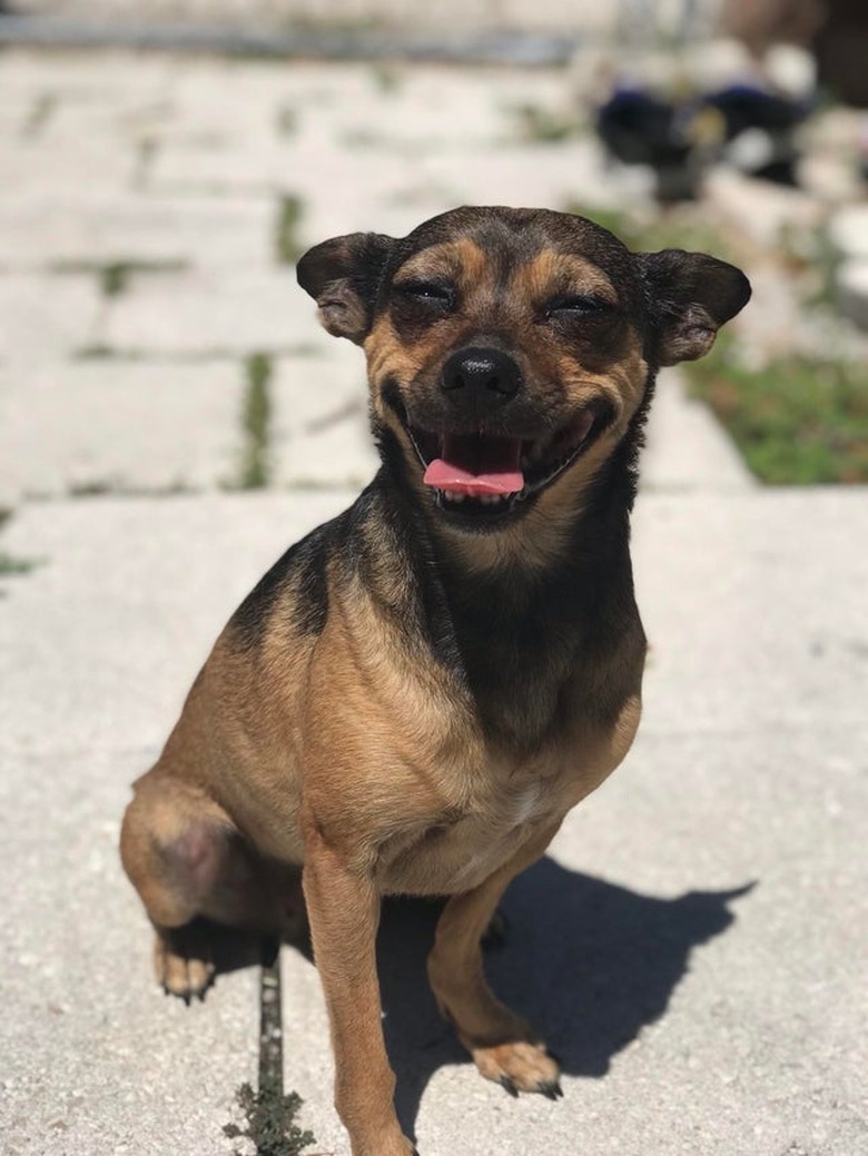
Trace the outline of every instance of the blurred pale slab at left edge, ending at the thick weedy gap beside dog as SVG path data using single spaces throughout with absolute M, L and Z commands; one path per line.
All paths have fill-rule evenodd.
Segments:
M 20 501 L 237 484 L 243 398 L 237 361 L 42 366 L 9 391 L 0 430 L 3 488 Z

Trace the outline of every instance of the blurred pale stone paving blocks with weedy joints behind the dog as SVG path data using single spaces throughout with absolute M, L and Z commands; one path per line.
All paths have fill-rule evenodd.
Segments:
M 0 83 L 7 506 L 238 484 L 253 354 L 273 362 L 275 484 L 357 484 L 373 465 L 359 361 L 318 331 L 287 258 L 462 202 L 632 192 L 589 139 L 522 140 L 515 110 L 565 99 L 556 73 L 10 51 Z M 747 484 L 713 423 L 706 443 Z M 719 476 L 690 452 L 689 476 Z

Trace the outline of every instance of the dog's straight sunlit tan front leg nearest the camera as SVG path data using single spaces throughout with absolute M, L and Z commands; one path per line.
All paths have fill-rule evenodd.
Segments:
M 335 1107 L 353 1156 L 409 1156 L 394 1110 L 395 1076 L 383 1038 L 376 940 L 380 898 L 320 838 L 305 850 L 304 897 L 328 1007 Z

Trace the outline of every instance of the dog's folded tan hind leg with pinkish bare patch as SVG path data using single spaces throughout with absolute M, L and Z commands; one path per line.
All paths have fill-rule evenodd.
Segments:
M 158 769 L 134 791 L 120 835 L 124 869 L 157 933 L 157 980 L 188 1000 L 214 977 L 207 920 L 280 931 L 277 904 L 265 866 L 205 792 Z

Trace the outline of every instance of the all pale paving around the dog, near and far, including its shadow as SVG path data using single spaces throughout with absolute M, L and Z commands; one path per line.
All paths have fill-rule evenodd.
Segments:
M 257 969 L 164 1000 L 116 845 L 228 614 L 373 468 L 359 354 L 290 259 L 461 201 L 641 190 L 589 139 L 522 140 L 554 73 L 5 52 L 0 94 L 3 1146 L 229 1156 Z M 650 443 L 644 729 L 491 958 L 566 1099 L 475 1076 L 421 978 L 430 914 L 399 907 L 385 1025 L 423 1156 L 868 1153 L 865 491 L 761 491 L 677 375 Z M 347 1156 L 316 971 L 281 965 L 287 1088 Z

